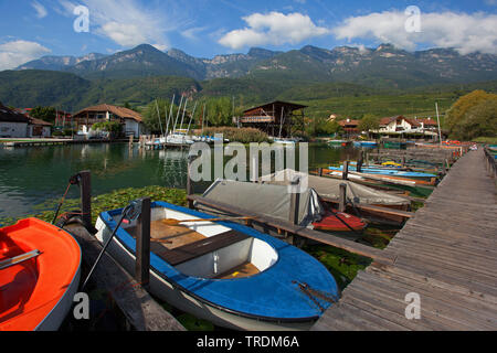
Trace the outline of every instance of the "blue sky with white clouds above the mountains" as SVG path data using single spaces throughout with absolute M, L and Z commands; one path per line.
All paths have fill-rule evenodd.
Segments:
M 497 0 L 0 0 L 0 71 L 139 44 L 212 58 L 305 45 L 497 54 Z

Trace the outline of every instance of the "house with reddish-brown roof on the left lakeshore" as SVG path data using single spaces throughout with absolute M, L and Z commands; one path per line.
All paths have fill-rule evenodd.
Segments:
M 123 133 L 126 136 L 138 137 L 145 130 L 140 114 L 108 104 L 84 108 L 73 116 L 73 121 L 81 131 L 88 131 L 93 125 L 102 121 L 118 121 L 123 126 Z

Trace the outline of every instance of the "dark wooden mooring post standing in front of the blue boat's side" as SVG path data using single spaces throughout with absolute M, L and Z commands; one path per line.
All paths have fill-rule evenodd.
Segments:
M 139 202 L 141 214 L 137 220 L 135 279 L 147 288 L 150 282 L 150 199 L 141 199 Z

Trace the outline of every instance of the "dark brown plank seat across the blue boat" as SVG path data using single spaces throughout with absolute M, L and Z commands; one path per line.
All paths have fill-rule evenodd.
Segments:
M 191 244 L 168 249 L 159 243 L 151 243 L 150 250 L 171 266 L 178 266 L 197 257 L 225 248 L 250 238 L 248 235 L 229 231 Z

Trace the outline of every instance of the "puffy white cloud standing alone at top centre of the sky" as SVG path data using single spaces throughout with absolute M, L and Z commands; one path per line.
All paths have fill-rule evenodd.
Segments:
M 307 39 L 330 33 L 328 29 L 317 26 L 308 15 L 298 12 L 254 13 L 244 17 L 243 20 L 248 24 L 247 28 L 226 33 L 219 43 L 237 50 L 265 44 L 297 44 Z

